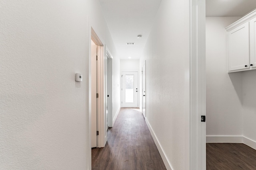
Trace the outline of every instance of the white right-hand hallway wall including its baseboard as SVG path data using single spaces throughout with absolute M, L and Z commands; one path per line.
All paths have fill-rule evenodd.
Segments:
M 145 60 L 146 122 L 166 168 L 184 170 L 189 162 L 184 123 L 189 116 L 184 92 L 189 87 L 189 1 L 162 0 L 140 68 Z

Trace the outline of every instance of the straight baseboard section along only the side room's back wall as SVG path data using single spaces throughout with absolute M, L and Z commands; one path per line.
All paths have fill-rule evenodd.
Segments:
M 206 143 L 243 143 L 242 136 L 206 136 Z

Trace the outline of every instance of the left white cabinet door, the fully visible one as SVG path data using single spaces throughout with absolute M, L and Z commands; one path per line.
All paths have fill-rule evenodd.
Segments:
M 242 71 L 250 68 L 249 41 L 249 22 L 246 22 L 228 32 L 229 71 Z

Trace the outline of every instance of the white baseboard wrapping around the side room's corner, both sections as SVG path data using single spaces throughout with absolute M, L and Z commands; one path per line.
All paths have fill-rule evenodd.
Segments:
M 256 150 L 256 141 L 243 136 L 206 136 L 206 143 L 244 143 Z

